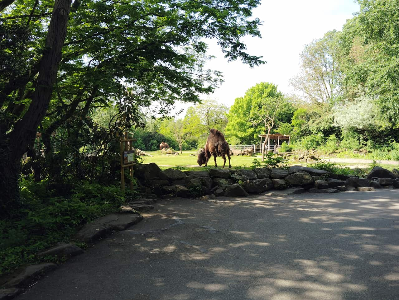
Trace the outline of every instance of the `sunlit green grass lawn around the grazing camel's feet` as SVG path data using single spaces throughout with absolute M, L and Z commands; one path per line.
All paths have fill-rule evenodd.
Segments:
M 184 167 L 184 170 L 202 170 L 204 166 L 199 167 L 197 163 L 197 152 L 196 151 L 183 151 L 182 155 L 164 155 L 161 154 L 160 151 L 146 151 L 147 154 L 153 155 L 154 157 L 144 156 L 143 163 L 156 163 L 161 169 L 168 169 L 172 167 Z M 180 152 L 179 152 L 180 154 Z M 195 154 L 191 156 L 190 154 Z M 255 156 L 232 156 L 231 157 L 231 167 L 235 168 L 244 168 L 251 167 L 251 163 L 253 160 L 257 158 L 261 160 L 261 157 Z M 223 159 L 221 157 L 217 157 L 216 159 L 217 166 L 223 167 Z M 208 162 L 208 167 L 215 167 L 215 161 L 213 157 Z M 226 165 L 225 168 L 229 167 L 229 159 L 226 157 Z M 180 168 L 179 168 L 180 169 Z

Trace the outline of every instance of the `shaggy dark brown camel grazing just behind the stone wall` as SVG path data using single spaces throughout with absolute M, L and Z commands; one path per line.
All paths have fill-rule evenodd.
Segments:
M 223 133 L 221 133 L 219 130 L 217 129 L 209 130 L 208 139 L 205 144 L 205 151 L 203 152 L 204 152 L 203 154 L 201 152 L 198 155 L 198 164 L 201 156 L 205 155 L 205 167 L 206 167 L 209 159 L 213 155 L 213 158 L 215 159 L 215 167 L 217 167 L 216 157 L 221 156 L 223 157 L 224 161 L 223 168 L 224 168 L 224 166 L 226 165 L 226 155 L 227 155 L 227 157 L 229 158 L 229 168 L 231 168 L 230 147 L 227 141 L 225 140 Z

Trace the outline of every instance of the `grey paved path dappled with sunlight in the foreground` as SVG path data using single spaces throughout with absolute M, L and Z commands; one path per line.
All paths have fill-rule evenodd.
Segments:
M 395 190 L 163 201 L 18 299 L 398 299 Z

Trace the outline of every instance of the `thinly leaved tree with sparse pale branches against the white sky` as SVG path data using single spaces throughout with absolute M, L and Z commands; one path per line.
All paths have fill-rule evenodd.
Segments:
M 332 108 L 337 91 L 336 36 L 335 30 L 329 31 L 306 45 L 300 55 L 301 72 L 291 80 L 302 96 L 320 108 Z

